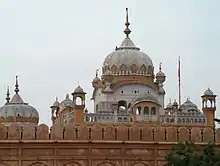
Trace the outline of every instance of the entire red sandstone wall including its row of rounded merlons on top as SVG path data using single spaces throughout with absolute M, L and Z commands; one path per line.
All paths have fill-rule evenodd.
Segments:
M 0 126 L 0 166 L 163 166 L 177 141 L 220 143 L 211 128 Z

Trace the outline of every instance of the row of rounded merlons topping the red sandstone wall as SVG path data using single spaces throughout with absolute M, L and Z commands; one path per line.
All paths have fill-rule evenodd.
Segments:
M 217 142 L 220 129 L 188 127 L 151 127 L 126 125 L 81 125 L 65 127 L 45 124 L 39 126 L 0 126 L 0 140 L 89 140 L 89 141 L 141 141 L 141 142 Z

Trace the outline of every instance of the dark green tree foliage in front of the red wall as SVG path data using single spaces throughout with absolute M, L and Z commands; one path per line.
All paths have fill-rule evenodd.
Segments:
M 192 142 L 180 142 L 165 159 L 167 166 L 220 166 L 220 151 L 214 144 L 200 148 Z

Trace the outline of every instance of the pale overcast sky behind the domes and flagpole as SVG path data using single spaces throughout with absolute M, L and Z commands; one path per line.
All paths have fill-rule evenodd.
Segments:
M 0 103 L 14 89 L 51 124 L 50 105 L 80 85 L 90 100 L 91 81 L 104 58 L 124 39 L 125 8 L 131 38 L 166 73 L 166 99 L 177 98 L 181 56 L 182 100 L 201 108 L 201 94 L 220 94 L 220 1 L 218 0 L 1 0 Z M 218 99 L 217 108 L 220 106 Z M 220 117 L 220 113 L 217 112 Z

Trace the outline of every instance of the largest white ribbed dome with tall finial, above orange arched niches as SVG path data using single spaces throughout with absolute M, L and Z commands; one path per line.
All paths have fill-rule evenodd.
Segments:
M 127 11 L 127 9 L 126 9 Z M 110 69 L 114 75 L 117 74 L 153 74 L 153 62 L 151 58 L 140 51 L 133 41 L 130 39 L 128 22 L 128 14 L 126 17 L 126 29 L 124 30 L 126 37 L 120 47 L 116 47 L 115 51 L 109 54 L 103 62 L 103 73 Z

